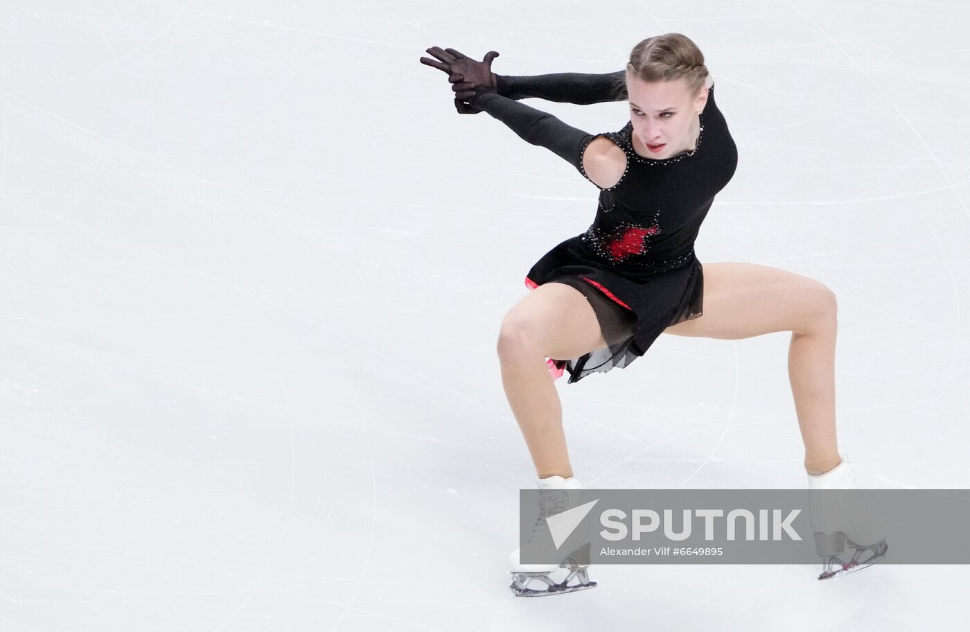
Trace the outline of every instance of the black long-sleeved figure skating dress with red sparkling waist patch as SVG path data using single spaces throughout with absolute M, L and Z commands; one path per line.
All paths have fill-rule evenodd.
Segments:
M 699 115 L 695 149 L 661 160 L 633 150 L 631 121 L 618 132 L 593 135 L 515 100 L 523 96 L 571 103 L 622 100 L 627 98 L 623 78 L 623 71 L 500 76 L 500 92 L 508 96 L 485 93 L 471 101 L 523 139 L 566 158 L 584 177 L 582 154 L 594 138 L 608 138 L 627 155 L 620 182 L 609 188 L 597 185 L 599 201 L 592 225 L 546 252 L 526 275 L 531 289 L 553 282 L 575 287 L 597 314 L 607 347 L 577 358 L 553 359 L 557 368 L 568 371 L 569 383 L 590 373 L 629 366 L 665 328 L 701 316 L 703 270 L 694 243 L 714 196 L 737 167 L 737 148 L 715 103 L 713 84 Z M 533 87 L 531 94 L 515 89 L 523 84 Z

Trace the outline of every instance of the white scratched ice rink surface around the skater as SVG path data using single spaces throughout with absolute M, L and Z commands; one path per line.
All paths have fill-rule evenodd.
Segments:
M 499 325 L 597 189 L 458 115 L 418 58 L 601 73 L 692 38 L 739 151 L 698 258 L 835 291 L 861 486 L 966 488 L 968 24 L 966 2 L 0 1 L 0 630 L 966 629 L 962 565 L 595 566 L 594 590 L 512 595 L 534 470 Z M 805 487 L 790 336 L 667 335 L 560 380 L 576 476 Z

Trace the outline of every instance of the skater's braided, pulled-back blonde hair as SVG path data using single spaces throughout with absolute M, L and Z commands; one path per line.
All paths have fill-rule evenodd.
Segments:
M 626 74 L 648 83 L 683 79 L 693 95 L 707 83 L 710 73 L 704 65 L 704 53 L 691 38 L 680 33 L 664 33 L 648 37 L 633 47 Z M 620 82 L 618 93 L 629 98 L 626 78 Z

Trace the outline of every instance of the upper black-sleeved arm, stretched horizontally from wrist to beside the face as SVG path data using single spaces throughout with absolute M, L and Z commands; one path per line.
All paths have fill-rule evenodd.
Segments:
M 510 99 L 536 97 L 546 101 L 589 105 L 625 101 L 626 71 L 615 73 L 552 73 L 548 75 L 496 75 L 499 94 Z M 457 95 L 461 98 L 461 95 Z

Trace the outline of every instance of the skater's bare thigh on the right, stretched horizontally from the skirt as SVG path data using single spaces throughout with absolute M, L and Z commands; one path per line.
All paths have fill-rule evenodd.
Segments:
M 834 312 L 835 296 L 808 277 L 755 263 L 703 264 L 703 314 L 663 333 L 738 340 L 774 331 L 806 331 Z

